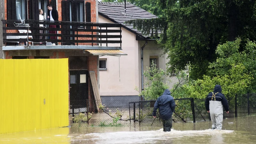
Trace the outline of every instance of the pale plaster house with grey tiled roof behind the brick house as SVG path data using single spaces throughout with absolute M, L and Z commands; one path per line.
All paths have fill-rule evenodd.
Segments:
M 122 24 L 122 50 L 127 56 L 100 57 L 100 96 L 102 100 L 123 100 L 134 101 L 141 100 L 138 97 L 139 90 L 144 89 L 146 77 L 143 71 L 150 67 L 153 61 L 157 68 L 166 70 L 168 62 L 167 54 L 163 53 L 156 39 L 151 39 L 142 34 L 138 29 L 134 29 L 132 25 L 124 24 L 127 20 L 134 19 L 152 19 L 157 16 L 131 4 L 131 3 L 111 3 L 98 2 L 99 22 L 103 23 L 121 23 Z M 114 44 L 116 45 L 116 44 Z M 170 88 L 175 83 L 175 76 L 172 83 L 168 83 Z M 122 105 L 124 102 L 120 102 Z

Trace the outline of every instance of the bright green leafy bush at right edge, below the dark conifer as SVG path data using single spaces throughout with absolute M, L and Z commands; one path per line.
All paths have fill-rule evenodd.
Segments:
M 210 63 L 211 73 L 217 76 L 228 75 L 230 81 L 236 83 L 232 91 L 239 94 L 256 90 L 256 44 L 247 40 L 244 51 L 239 52 L 241 39 L 219 45 L 216 53 L 220 56 Z M 229 85 L 232 87 L 232 85 Z M 231 88 L 230 88 L 231 89 Z M 230 93 L 230 92 L 227 92 Z M 233 94 L 233 93 L 232 93 Z

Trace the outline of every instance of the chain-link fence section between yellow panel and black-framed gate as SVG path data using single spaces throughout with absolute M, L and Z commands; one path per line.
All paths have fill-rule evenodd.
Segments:
M 70 101 L 69 124 L 71 126 L 129 126 L 133 125 L 129 110 L 129 100 L 118 97 L 101 99 L 101 101 L 74 100 Z

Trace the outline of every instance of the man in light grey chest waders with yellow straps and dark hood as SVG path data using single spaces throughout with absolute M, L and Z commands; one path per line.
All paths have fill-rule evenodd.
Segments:
M 215 85 L 213 92 L 210 92 L 205 100 L 205 108 L 210 113 L 212 129 L 221 130 L 223 121 L 223 107 L 228 114 L 228 101 L 221 93 L 220 85 Z

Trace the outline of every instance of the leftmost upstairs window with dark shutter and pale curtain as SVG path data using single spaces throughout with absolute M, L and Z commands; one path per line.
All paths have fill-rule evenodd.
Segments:
M 26 0 L 7 0 L 7 20 L 25 20 L 26 12 Z

